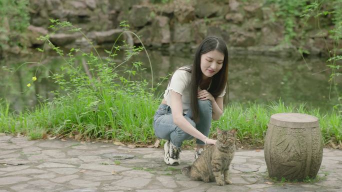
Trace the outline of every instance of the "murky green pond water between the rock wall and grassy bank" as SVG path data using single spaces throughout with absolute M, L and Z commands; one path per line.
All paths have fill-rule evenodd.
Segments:
M 192 63 L 192 54 L 169 54 L 160 51 L 148 51 L 152 69 L 153 82 L 160 82 L 159 77 L 172 73 L 180 66 Z M 120 57 L 118 57 L 120 58 Z M 40 54 L 32 53 L 26 57 L 10 57 L 0 63 L 0 98 L 10 103 L 11 111 L 22 111 L 34 107 L 38 100 L 53 99 L 51 91 L 57 88 L 49 78 L 51 73 L 59 71 L 62 60 L 56 55 L 49 55 L 43 60 L 43 65 L 37 68 L 34 63 L 23 64 L 28 61 L 39 61 Z M 146 67 L 143 76 L 151 79 L 150 67 L 144 53 L 135 56 L 134 60 L 141 60 Z M 329 97 L 329 75 L 326 70 L 326 59 L 278 58 L 260 55 L 231 55 L 229 57 L 229 90 L 228 102 L 256 102 L 269 103 L 281 98 L 285 104 L 294 105 L 306 103 L 307 106 L 329 110 L 336 104 L 334 93 Z M 21 66 L 20 66 L 21 65 Z M 20 67 L 18 67 L 20 66 Z M 15 72 L 8 72 L 9 68 L 16 68 Z M 38 70 L 37 70 L 38 69 Z M 32 83 L 32 76 L 37 81 Z M 337 79 L 338 85 L 342 83 Z M 26 85 L 31 83 L 31 87 Z M 156 91 L 161 96 L 167 81 L 164 81 Z M 39 95 L 36 97 L 36 95 Z

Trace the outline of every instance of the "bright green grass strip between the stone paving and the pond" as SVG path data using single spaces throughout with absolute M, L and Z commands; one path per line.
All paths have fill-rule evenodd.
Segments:
M 145 93 L 103 91 L 100 100 L 89 95 L 69 96 L 41 104 L 32 111 L 20 114 L 8 112 L 8 103 L 0 104 L 0 132 L 24 134 L 30 139 L 40 139 L 46 134 L 69 136 L 80 134 L 82 138 L 119 140 L 125 143 L 154 143 L 152 121 L 160 100 Z M 212 123 L 210 134 L 215 128 L 237 129 L 237 139 L 255 146 L 263 145 L 269 118 L 274 113 L 296 112 L 313 115 L 319 119 L 323 143 L 341 141 L 342 117 L 332 110 L 320 113 L 304 104 L 285 106 L 283 102 L 266 104 L 229 104 L 218 121 Z M 193 140 L 184 142 L 192 146 Z M 161 144 L 162 145 L 162 144 Z

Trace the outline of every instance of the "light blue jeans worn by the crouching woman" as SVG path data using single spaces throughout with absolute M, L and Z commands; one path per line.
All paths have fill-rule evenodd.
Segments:
M 183 114 L 183 116 L 193 127 L 207 137 L 211 127 L 211 101 L 198 99 L 198 112 L 199 121 L 197 124 L 190 119 L 192 114 L 191 109 L 189 109 L 187 114 Z M 160 104 L 155 112 L 153 128 L 157 138 L 170 140 L 176 148 L 180 148 L 184 140 L 192 139 L 191 135 L 185 133 L 173 123 L 171 108 L 165 104 Z M 196 144 L 204 145 L 204 142 L 197 139 Z

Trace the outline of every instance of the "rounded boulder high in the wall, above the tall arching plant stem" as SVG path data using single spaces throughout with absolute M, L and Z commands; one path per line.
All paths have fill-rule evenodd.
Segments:
M 142 27 L 150 21 L 151 9 L 144 5 L 133 5 L 128 17 L 129 24 L 134 27 Z

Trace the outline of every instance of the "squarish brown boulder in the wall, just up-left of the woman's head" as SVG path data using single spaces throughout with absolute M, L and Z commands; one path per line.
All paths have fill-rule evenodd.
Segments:
M 175 23 L 172 35 L 172 42 L 188 43 L 192 41 L 192 26 L 189 23 Z

